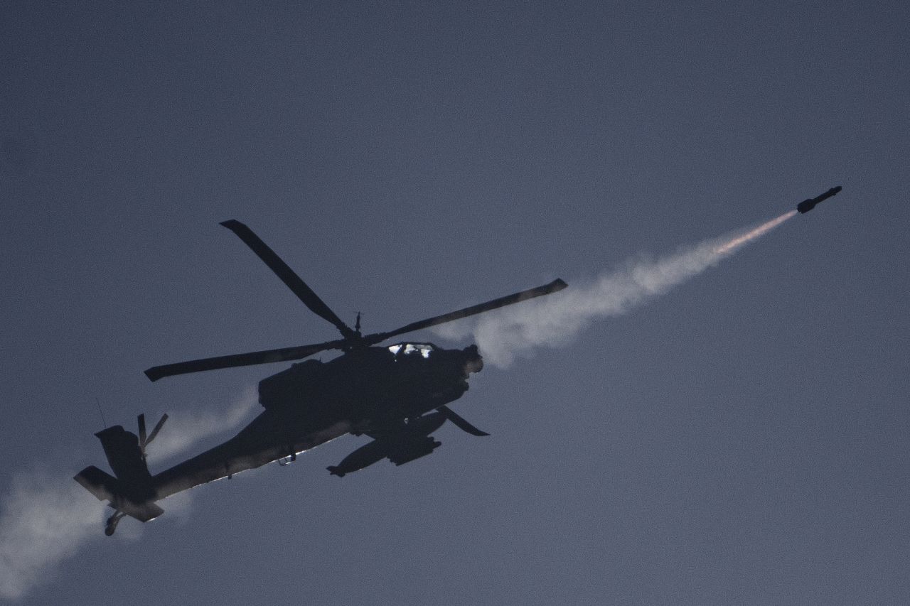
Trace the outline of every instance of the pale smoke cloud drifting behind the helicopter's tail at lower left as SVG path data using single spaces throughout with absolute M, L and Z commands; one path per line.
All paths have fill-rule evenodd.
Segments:
M 149 459 L 172 456 L 200 439 L 234 429 L 256 403 L 256 391 L 250 388 L 223 413 L 174 413 L 149 447 Z M 104 518 L 112 512 L 72 477 L 39 471 L 16 476 L 0 507 L 0 599 L 6 600 L 22 598 L 88 540 L 100 539 Z M 167 500 L 166 508 L 185 518 L 190 500 Z M 117 534 L 124 530 L 127 537 L 138 536 L 122 526 Z

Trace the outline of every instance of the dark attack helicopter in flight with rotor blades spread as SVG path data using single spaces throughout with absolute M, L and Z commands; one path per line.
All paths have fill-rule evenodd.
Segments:
M 141 414 L 137 418 L 138 435 L 121 425 L 98 431 L 95 435 L 101 440 L 114 475 L 92 465 L 79 471 L 74 480 L 114 509 L 106 520 L 107 536 L 114 534 L 117 523 L 126 516 L 146 522 L 162 515 L 164 510 L 157 505 L 158 500 L 210 481 L 230 479 L 270 462 L 286 465 L 297 460 L 298 454 L 345 434 L 366 435 L 371 441 L 338 465 L 327 468 L 339 478 L 379 460 L 403 465 L 429 455 L 440 446 L 440 441 L 430 434 L 447 420 L 470 435 L 489 435 L 448 406 L 468 390 L 470 374 L 483 369 L 476 345 L 447 349 L 427 342 L 380 344 L 405 333 L 549 295 L 567 286 L 557 278 L 541 287 L 387 332 L 364 335 L 360 314 L 354 328 L 350 328 L 249 227 L 235 219 L 220 225 L 234 232 L 310 311 L 334 325 L 341 338 L 147 369 L 147 378 L 156 381 L 203 370 L 303 360 L 259 381 L 258 401 L 264 410 L 236 436 L 156 475 L 148 471 L 146 449 L 167 415 L 151 433 L 147 433 L 146 419 Z M 333 349 L 342 353 L 327 362 L 306 359 Z

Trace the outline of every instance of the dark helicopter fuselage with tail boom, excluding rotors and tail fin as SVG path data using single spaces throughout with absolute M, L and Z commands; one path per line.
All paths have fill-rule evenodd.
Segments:
M 160 500 L 212 480 L 296 456 L 346 433 L 381 430 L 459 399 L 483 361 L 476 346 L 425 343 L 351 350 L 307 360 L 259 382 L 265 408 L 226 442 L 152 478 Z

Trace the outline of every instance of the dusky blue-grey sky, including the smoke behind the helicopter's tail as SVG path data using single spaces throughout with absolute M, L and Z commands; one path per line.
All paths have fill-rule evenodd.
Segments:
M 908 22 L 897 2 L 5 2 L 0 600 L 910 601 Z M 346 437 L 113 539 L 70 480 L 106 467 L 96 398 L 127 429 L 167 411 L 177 448 L 250 419 L 283 367 L 143 369 L 336 337 L 219 221 L 374 332 L 586 288 L 834 185 L 488 365 L 453 409 L 490 438 L 446 426 L 431 457 L 339 480 Z

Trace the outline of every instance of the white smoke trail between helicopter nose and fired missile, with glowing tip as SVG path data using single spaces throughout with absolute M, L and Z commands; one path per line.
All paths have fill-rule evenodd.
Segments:
M 486 361 L 507 367 L 516 356 L 530 355 L 533 348 L 567 344 L 596 318 L 620 315 L 662 295 L 794 215 L 792 210 L 753 229 L 682 248 L 656 261 L 632 260 L 592 284 L 572 285 L 556 295 L 440 327 L 439 333 L 448 338 L 472 335 Z

